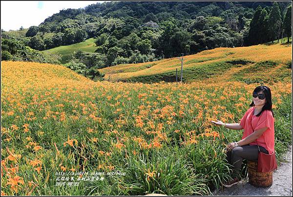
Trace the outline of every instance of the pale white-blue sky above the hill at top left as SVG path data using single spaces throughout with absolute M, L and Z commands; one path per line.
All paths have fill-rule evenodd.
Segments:
M 87 5 L 97 2 L 105 2 L 98 0 L 79 0 L 79 1 L 63 1 L 63 0 L 45 0 L 45 1 L 10 1 L 1 0 L 1 29 L 18 30 L 29 28 L 30 26 L 38 26 L 49 16 L 58 13 L 62 9 L 67 8 L 84 8 Z

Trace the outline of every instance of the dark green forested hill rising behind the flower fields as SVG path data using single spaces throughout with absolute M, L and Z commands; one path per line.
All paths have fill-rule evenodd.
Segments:
M 25 36 L 2 32 L 2 60 L 35 61 L 27 47 L 42 51 L 89 38 L 96 39 L 96 51 L 79 52 L 68 62 L 103 68 L 195 54 L 216 47 L 259 44 L 291 35 L 285 28 L 285 24 L 290 23 L 291 27 L 292 23 L 289 5 L 291 1 L 97 3 L 61 10 L 39 26 L 31 26 Z M 261 28 L 268 30 L 265 35 Z M 14 45 L 13 39 L 17 42 Z M 12 45 L 27 47 L 21 49 L 25 52 L 18 52 L 21 47 L 10 50 Z

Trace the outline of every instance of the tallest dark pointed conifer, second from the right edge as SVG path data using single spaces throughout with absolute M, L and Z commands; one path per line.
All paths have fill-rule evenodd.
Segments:
M 269 14 L 268 25 L 269 38 L 273 42 L 276 38 L 280 37 L 280 35 L 278 35 L 278 32 L 280 32 L 279 29 L 282 26 L 281 12 L 279 5 L 276 1 L 274 1 L 272 5 L 272 9 Z

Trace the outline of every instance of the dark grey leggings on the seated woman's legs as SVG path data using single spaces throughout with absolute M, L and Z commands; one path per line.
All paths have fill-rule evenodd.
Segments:
M 268 154 L 269 152 L 262 146 L 259 146 L 262 153 Z M 258 159 L 258 147 L 257 145 L 245 145 L 238 146 L 227 152 L 227 161 L 230 165 L 234 166 L 232 175 L 238 175 L 243 159 L 250 161 L 257 161 Z

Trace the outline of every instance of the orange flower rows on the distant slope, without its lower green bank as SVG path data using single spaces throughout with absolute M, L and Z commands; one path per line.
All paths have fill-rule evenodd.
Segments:
M 237 60 L 249 61 L 251 63 L 274 61 L 277 64 L 286 64 L 291 62 L 291 59 L 292 47 L 290 44 L 258 44 L 235 48 L 218 47 L 211 50 L 202 51 L 197 54 L 187 55 L 184 56 L 183 65 L 184 70 L 186 70 L 186 68 L 199 69 L 205 66 L 209 67 L 210 65 L 217 63 L 223 65 L 226 62 Z M 109 79 L 110 81 L 121 81 L 152 75 L 157 75 L 157 77 L 162 75 L 164 76 L 169 72 L 175 72 L 176 68 L 178 69 L 178 75 L 180 76 L 181 60 L 177 58 L 169 58 L 156 62 L 109 66 L 99 69 L 99 71 L 105 73 L 105 79 Z M 221 72 L 221 69 L 218 69 L 217 71 Z M 187 73 L 184 73 L 183 77 L 188 75 L 188 72 L 190 73 L 190 70 L 188 70 Z M 187 81 L 188 77 L 184 82 Z

